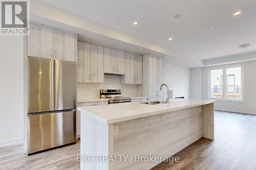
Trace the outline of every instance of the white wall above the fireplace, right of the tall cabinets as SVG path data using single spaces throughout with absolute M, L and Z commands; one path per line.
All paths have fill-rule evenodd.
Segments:
M 169 90 L 186 90 L 186 98 L 190 98 L 190 69 L 173 65 L 164 61 L 164 83 Z

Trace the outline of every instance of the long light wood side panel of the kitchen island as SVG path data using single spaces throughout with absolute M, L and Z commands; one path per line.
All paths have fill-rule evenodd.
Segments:
M 203 109 L 193 107 L 127 120 L 114 135 L 114 155 L 130 155 L 132 163 L 114 163 L 113 169 L 150 169 L 160 162 L 134 163 L 134 155 L 172 156 L 203 136 Z

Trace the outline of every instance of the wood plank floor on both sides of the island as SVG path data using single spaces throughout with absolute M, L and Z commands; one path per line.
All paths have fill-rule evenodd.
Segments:
M 80 143 L 27 156 L 21 144 L 0 148 L 0 169 L 79 169 Z M 201 138 L 177 153 L 180 162 L 161 169 L 256 170 L 256 115 L 215 112 L 215 140 Z

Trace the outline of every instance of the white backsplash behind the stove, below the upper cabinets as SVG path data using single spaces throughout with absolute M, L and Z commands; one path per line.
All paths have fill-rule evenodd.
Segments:
M 139 96 L 136 84 L 120 84 L 120 76 L 105 75 L 104 83 L 78 83 L 77 99 L 98 99 L 99 89 L 121 89 L 122 96 Z

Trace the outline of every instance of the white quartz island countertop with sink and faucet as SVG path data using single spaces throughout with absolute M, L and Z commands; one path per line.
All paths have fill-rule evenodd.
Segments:
M 81 114 L 88 114 L 105 124 L 113 124 L 125 120 L 206 105 L 214 102 L 214 100 L 170 99 L 168 105 L 166 103 L 146 105 L 137 102 L 129 102 L 78 107 L 78 110 Z

